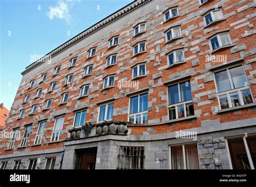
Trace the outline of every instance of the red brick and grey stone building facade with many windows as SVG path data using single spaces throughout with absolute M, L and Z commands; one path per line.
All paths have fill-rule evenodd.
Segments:
M 254 169 L 253 0 L 139 0 L 22 72 L 2 169 Z

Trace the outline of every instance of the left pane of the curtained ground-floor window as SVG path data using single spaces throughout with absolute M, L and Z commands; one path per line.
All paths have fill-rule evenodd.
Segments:
M 172 169 L 184 169 L 182 146 L 171 147 Z

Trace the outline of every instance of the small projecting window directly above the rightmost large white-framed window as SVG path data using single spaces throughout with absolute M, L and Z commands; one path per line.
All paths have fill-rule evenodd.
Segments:
M 217 34 L 216 36 L 210 39 L 210 47 L 212 51 L 231 44 L 232 41 L 230 38 L 230 34 L 228 32 Z

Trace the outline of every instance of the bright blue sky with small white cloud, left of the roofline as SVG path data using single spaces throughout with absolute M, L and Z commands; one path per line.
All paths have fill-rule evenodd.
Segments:
M 0 0 L 0 103 L 10 110 L 21 72 L 133 0 Z

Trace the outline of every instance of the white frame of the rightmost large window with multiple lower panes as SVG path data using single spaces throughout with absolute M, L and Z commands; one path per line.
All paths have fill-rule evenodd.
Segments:
M 234 92 L 238 92 L 238 99 L 239 99 L 239 102 L 240 102 L 240 106 L 245 105 L 244 100 L 242 99 L 241 91 L 244 91 L 244 90 L 247 90 L 247 89 L 249 89 L 249 91 L 251 93 L 253 103 L 255 102 L 254 98 L 253 98 L 253 94 L 252 94 L 251 88 L 250 88 L 250 85 L 249 85 L 249 81 L 248 81 L 248 78 L 246 76 L 246 73 L 245 73 L 245 70 L 244 70 L 243 66 L 242 66 L 242 70 L 243 70 L 243 73 L 245 74 L 245 77 L 247 79 L 248 86 L 244 86 L 244 87 L 240 87 L 240 88 L 234 88 L 234 85 L 233 85 L 233 82 L 232 82 L 232 77 L 231 77 L 231 74 L 230 74 L 230 69 L 233 68 L 233 67 L 239 67 L 239 66 L 231 66 L 231 67 L 223 68 L 221 70 L 213 72 L 213 80 L 214 80 L 215 88 L 216 88 L 216 91 L 217 91 L 217 99 L 218 99 L 219 109 L 220 110 L 221 110 L 221 106 L 220 106 L 220 99 L 219 99 L 219 97 L 222 96 L 222 95 L 227 95 L 228 108 L 233 108 L 230 94 L 232 94 Z M 219 92 L 218 91 L 218 87 L 217 87 L 217 82 L 216 82 L 216 79 L 215 79 L 215 73 L 219 73 L 219 72 L 224 71 L 224 70 L 227 71 L 228 80 L 230 81 L 231 89 L 228 90 L 228 91 L 225 91 L 225 92 Z

